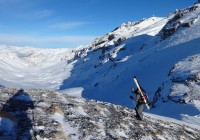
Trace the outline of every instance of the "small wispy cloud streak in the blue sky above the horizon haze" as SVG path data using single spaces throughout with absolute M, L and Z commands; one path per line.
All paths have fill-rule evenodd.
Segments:
M 69 30 L 69 29 L 79 28 L 91 23 L 92 22 L 63 22 L 63 23 L 51 25 L 50 28 Z

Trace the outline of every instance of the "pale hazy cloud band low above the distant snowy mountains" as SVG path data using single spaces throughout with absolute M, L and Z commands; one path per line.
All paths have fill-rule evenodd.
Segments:
M 77 47 L 90 44 L 95 36 L 27 36 L 0 34 L 0 44 L 43 48 Z

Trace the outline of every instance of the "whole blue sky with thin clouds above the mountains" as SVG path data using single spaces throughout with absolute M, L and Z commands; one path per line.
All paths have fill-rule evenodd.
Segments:
M 166 17 L 196 0 L 0 0 L 0 44 L 74 48 L 128 21 Z

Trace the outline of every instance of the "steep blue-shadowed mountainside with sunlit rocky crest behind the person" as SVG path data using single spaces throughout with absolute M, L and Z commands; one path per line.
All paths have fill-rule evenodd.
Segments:
M 122 24 L 93 42 L 61 89 L 83 87 L 83 97 L 132 108 L 136 75 L 151 112 L 199 124 L 199 14 L 195 4 L 167 18 Z

